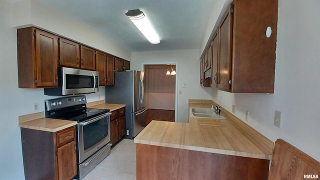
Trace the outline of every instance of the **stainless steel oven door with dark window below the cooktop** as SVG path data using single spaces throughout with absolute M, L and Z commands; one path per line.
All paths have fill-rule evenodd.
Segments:
M 78 123 L 79 163 L 110 142 L 110 112 Z

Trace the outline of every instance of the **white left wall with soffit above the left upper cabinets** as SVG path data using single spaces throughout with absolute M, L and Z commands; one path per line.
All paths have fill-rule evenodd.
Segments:
M 128 60 L 131 58 L 131 52 L 33 1 L 11 4 L 0 0 L 0 179 L 24 179 L 18 116 L 34 113 L 33 103 L 39 103 L 39 111 L 44 111 L 44 99 L 55 98 L 43 95 L 43 88 L 18 88 L 14 27 L 25 24 L 35 24 Z M 87 101 L 104 99 L 104 89 L 100 87 L 99 92 L 85 94 Z

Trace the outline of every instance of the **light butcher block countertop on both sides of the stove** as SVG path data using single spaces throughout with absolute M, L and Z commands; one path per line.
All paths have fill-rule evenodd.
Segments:
M 110 111 L 122 108 L 125 104 L 106 104 L 104 100 L 86 103 L 89 108 L 110 109 Z M 19 116 L 19 127 L 35 130 L 56 132 L 64 128 L 75 125 L 73 120 L 62 120 L 54 118 L 45 118 L 44 112 L 37 112 Z

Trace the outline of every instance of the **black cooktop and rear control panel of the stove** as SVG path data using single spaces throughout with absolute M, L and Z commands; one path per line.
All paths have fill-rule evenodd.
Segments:
M 78 122 L 109 112 L 109 109 L 86 108 L 84 95 L 45 100 L 45 117 Z

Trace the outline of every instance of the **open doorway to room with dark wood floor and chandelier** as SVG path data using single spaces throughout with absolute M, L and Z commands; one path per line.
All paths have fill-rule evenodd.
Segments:
M 176 64 L 144 64 L 147 120 L 175 121 Z

